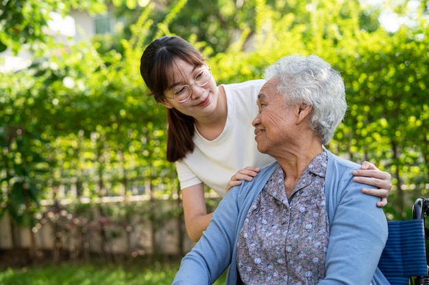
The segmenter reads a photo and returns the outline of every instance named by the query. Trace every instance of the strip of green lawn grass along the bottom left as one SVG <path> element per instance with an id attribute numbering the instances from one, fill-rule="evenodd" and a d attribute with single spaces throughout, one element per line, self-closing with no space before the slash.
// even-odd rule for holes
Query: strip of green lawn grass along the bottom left
<path id="1" fill-rule="evenodd" d="M 0 285 L 164 285 L 171 284 L 178 268 L 178 262 L 155 262 L 141 267 L 138 264 L 45 264 L 0 271 Z M 225 274 L 215 284 L 225 284 Z"/>

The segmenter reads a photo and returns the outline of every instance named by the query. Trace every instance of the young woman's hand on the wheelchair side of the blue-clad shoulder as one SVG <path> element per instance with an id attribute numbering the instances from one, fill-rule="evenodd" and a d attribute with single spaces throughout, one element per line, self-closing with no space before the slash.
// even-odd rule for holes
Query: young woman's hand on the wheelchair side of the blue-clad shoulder
<path id="1" fill-rule="evenodd" d="M 380 171 L 376 165 L 373 165 L 369 161 L 364 161 L 360 169 L 354 170 L 353 175 L 355 175 L 353 178 L 355 182 L 378 187 L 378 189 L 363 188 L 362 192 L 380 197 L 380 202 L 377 202 L 378 207 L 387 205 L 387 197 L 392 188 L 392 176 L 389 173 Z"/>

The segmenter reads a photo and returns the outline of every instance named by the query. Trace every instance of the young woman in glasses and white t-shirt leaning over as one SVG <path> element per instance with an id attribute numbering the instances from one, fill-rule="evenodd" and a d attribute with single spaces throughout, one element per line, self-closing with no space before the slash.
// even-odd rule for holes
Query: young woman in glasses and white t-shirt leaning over
<path id="1" fill-rule="evenodd" d="M 188 236 L 198 241 L 212 217 L 204 185 L 221 197 L 239 180 L 252 180 L 259 167 L 274 159 L 258 152 L 252 120 L 265 80 L 217 86 L 204 57 L 186 40 L 164 36 L 151 42 L 140 60 L 150 95 L 168 108 L 167 160 L 175 162 L 182 189 Z M 391 176 L 364 162 L 356 182 L 378 187 L 363 193 L 387 204 Z"/>

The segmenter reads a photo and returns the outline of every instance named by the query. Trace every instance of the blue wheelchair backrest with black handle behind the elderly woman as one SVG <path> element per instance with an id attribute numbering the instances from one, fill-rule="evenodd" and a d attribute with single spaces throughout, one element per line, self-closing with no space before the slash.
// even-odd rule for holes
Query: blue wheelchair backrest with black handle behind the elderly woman
<path id="1" fill-rule="evenodd" d="M 413 219 L 389 221 L 389 236 L 378 267 L 391 285 L 429 285 L 426 228 L 429 199 L 417 198 Z"/>

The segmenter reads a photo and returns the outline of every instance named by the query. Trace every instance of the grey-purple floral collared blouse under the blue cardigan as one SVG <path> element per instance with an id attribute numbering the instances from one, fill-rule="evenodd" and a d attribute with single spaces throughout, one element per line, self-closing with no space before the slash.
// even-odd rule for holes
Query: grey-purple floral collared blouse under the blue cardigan
<path id="1" fill-rule="evenodd" d="M 326 152 L 321 152 L 286 197 L 279 166 L 249 208 L 237 243 L 243 284 L 317 284 L 325 276 L 329 221 Z"/>

